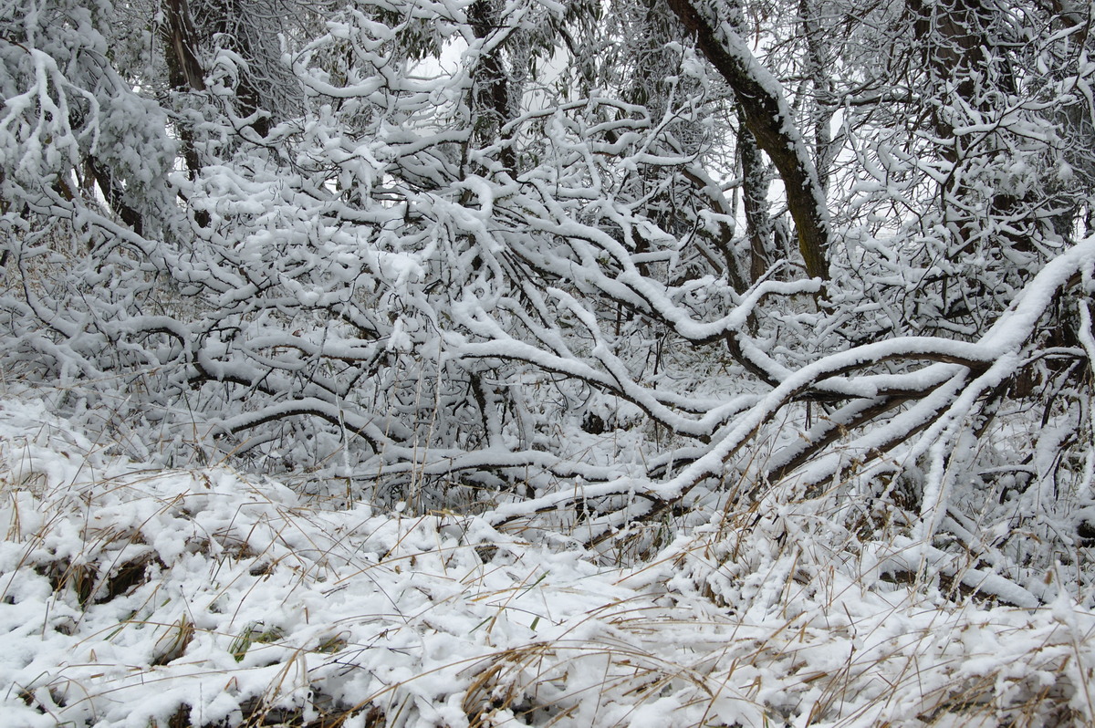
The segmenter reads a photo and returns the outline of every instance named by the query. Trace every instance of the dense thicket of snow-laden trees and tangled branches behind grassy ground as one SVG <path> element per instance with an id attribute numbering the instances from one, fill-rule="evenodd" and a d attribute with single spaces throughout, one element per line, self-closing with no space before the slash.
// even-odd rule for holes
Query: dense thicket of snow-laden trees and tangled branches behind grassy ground
<path id="1" fill-rule="evenodd" d="M 631 555 L 797 515 L 1083 591 L 1090 23 L 4 2 L 0 367 L 169 464 Z"/>

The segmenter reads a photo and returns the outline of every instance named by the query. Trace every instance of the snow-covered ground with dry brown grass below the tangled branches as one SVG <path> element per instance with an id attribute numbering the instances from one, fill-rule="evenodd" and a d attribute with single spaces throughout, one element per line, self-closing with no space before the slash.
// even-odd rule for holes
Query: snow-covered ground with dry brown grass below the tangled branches
<path id="1" fill-rule="evenodd" d="M 4 726 L 1095 723 L 1063 599 L 955 604 L 727 524 L 609 567 L 142 467 L 13 398 L 0 448 Z"/>

